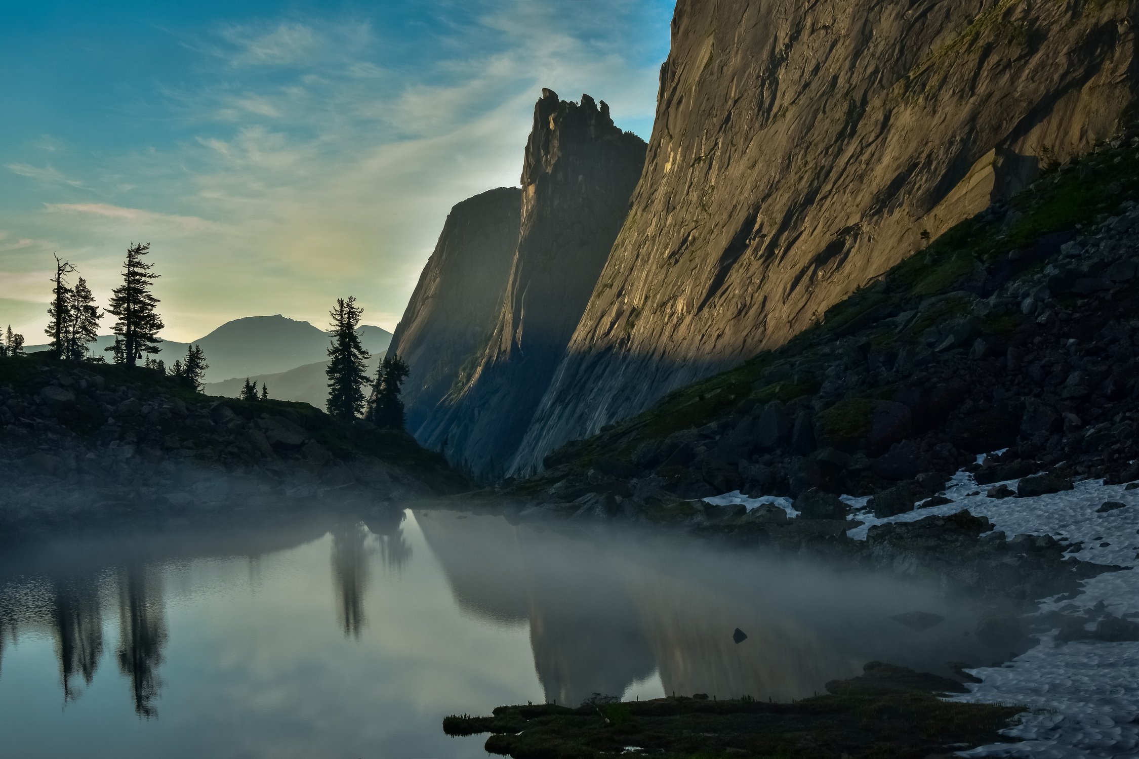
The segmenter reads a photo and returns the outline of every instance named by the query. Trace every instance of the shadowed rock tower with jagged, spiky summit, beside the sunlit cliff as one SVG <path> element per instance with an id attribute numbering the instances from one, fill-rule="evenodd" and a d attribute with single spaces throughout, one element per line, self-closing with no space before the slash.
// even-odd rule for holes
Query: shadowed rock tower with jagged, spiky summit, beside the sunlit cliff
<path id="1" fill-rule="evenodd" d="M 490 339 L 419 427 L 420 443 L 476 472 L 510 461 L 621 230 L 645 150 L 614 125 L 605 101 L 542 91 L 518 244 Z"/>

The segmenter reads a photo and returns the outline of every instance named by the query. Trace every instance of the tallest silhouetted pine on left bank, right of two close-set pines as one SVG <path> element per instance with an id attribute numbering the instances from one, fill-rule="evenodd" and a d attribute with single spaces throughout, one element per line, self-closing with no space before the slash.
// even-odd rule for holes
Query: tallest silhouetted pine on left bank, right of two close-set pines
<path id="1" fill-rule="evenodd" d="M 142 261 L 150 253 L 150 245 L 132 245 L 123 262 L 123 283 L 113 290 L 108 314 L 118 317 L 114 333 L 118 338 L 107 348 L 115 354 L 115 363 L 133 366 L 144 353 L 158 353 L 158 330 L 165 324 L 155 311 L 158 298 L 150 294 L 151 282 L 159 274 L 151 274 L 154 264 Z"/>

